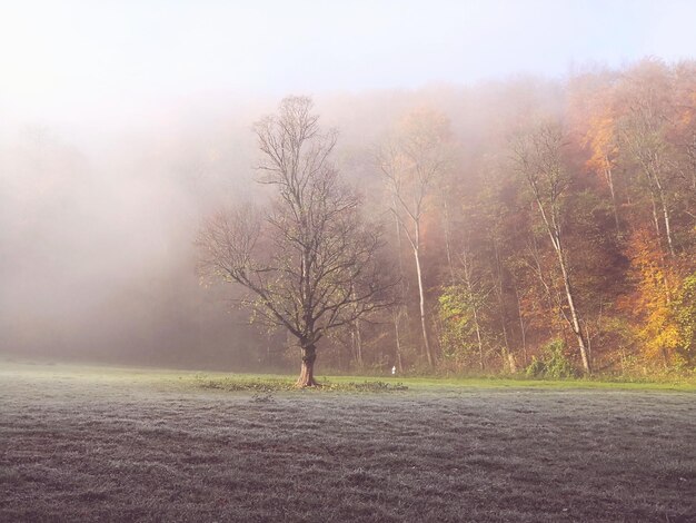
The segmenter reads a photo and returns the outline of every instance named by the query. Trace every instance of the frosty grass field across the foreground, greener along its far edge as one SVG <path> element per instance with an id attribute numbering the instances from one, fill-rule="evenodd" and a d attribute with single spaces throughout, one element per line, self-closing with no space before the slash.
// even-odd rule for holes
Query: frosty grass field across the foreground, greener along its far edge
<path id="1" fill-rule="evenodd" d="M 0 521 L 696 521 L 693 386 L 240 379 L 0 363 Z"/>

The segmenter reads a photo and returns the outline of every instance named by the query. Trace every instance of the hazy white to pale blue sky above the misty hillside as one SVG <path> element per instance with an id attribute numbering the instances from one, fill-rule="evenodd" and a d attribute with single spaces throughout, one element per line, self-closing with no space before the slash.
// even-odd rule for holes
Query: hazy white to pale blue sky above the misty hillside
<path id="1" fill-rule="evenodd" d="M 419 87 L 696 56 L 696 1 L 0 0 L 0 116 Z"/>

